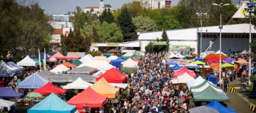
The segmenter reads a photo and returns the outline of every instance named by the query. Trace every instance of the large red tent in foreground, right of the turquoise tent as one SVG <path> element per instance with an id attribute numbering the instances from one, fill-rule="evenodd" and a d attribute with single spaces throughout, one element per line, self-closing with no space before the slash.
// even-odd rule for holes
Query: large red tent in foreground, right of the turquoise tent
<path id="1" fill-rule="evenodd" d="M 89 86 L 87 89 L 67 101 L 67 104 L 75 105 L 76 110 L 82 110 L 82 107 L 102 107 L 107 103 L 107 96 L 95 92 Z"/>

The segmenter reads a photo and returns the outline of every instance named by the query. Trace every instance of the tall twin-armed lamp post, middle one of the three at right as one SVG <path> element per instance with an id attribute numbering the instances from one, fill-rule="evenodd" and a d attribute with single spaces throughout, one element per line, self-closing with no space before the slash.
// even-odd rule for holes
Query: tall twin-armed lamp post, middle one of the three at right
<path id="1" fill-rule="evenodd" d="M 219 6 L 220 7 L 220 26 L 219 26 L 219 80 L 221 80 L 221 29 L 223 28 L 223 26 L 221 25 L 221 8 L 222 6 L 228 6 L 229 3 L 224 4 L 223 3 L 213 3 L 213 5 L 215 6 Z"/>

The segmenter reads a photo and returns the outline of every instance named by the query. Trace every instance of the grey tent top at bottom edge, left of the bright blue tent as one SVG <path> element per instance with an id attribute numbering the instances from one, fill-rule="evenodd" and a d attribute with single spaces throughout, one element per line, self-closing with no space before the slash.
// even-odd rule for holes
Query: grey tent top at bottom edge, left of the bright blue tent
<path id="1" fill-rule="evenodd" d="M 189 109 L 189 113 L 219 113 L 218 110 L 206 106 L 199 106 Z"/>

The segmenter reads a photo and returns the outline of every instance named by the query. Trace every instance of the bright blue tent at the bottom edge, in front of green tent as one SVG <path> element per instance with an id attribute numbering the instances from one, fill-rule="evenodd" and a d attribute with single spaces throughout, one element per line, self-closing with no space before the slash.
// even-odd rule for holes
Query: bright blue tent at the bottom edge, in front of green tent
<path id="1" fill-rule="evenodd" d="M 210 107 L 213 108 L 215 110 L 218 110 L 219 113 L 237 113 L 235 110 L 233 110 L 232 108 L 227 108 L 225 106 L 223 106 L 222 104 L 220 104 L 218 101 L 213 100 L 212 102 L 210 102 L 209 104 L 204 105 L 206 107 Z"/>

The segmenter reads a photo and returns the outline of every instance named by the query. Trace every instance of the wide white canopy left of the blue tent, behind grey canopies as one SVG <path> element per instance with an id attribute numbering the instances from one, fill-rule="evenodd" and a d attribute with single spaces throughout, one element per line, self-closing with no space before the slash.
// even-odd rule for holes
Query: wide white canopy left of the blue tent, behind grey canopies
<path id="1" fill-rule="evenodd" d="M 80 68 L 83 66 L 97 68 L 97 70 L 100 70 L 102 68 L 104 68 L 105 70 L 109 70 L 110 68 L 116 68 L 115 66 L 111 65 L 110 63 L 104 60 L 87 60 L 76 68 Z"/>

